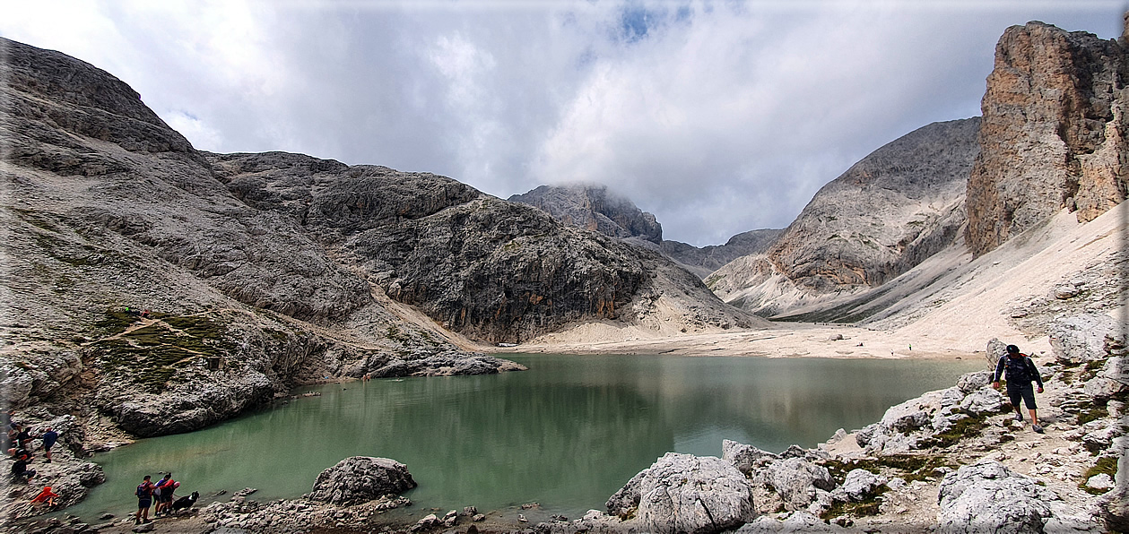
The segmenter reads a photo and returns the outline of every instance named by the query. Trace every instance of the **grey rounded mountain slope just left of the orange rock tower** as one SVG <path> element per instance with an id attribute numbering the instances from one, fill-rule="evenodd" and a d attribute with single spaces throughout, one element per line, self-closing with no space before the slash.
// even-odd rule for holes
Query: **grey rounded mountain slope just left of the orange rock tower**
<path id="1" fill-rule="evenodd" d="M 908 271 L 960 237 L 979 125 L 934 123 L 875 150 L 824 185 L 764 255 L 734 260 L 706 283 L 768 316 Z"/>

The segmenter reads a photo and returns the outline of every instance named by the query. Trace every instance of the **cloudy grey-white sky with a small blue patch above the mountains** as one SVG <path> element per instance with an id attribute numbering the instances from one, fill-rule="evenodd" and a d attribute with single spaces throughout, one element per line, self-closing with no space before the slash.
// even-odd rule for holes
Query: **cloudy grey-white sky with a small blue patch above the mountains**
<path id="1" fill-rule="evenodd" d="M 1127 3 L 0 0 L 0 35 L 130 84 L 199 149 L 431 172 L 507 198 L 597 182 L 664 237 L 782 228 L 823 184 L 980 113 L 995 44 L 1112 38 Z"/>

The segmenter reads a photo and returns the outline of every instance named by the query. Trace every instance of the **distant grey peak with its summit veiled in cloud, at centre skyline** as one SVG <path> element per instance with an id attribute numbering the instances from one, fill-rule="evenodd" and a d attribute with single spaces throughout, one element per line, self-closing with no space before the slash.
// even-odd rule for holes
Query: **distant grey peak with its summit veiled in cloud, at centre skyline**
<path id="1" fill-rule="evenodd" d="M 609 192 L 604 185 L 542 185 L 508 200 L 536 207 L 568 226 L 610 237 L 639 237 L 655 244 L 663 243 L 663 225 L 655 220 L 654 215 L 640 210 L 627 198 Z"/>

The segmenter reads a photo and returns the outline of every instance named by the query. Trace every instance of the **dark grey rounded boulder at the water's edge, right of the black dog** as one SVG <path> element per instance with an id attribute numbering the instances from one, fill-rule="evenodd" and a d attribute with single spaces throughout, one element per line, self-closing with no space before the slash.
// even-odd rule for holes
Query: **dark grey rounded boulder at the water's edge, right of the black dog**
<path id="1" fill-rule="evenodd" d="M 388 458 L 351 456 L 322 471 L 309 493 L 313 500 L 352 506 L 415 488 L 408 466 Z"/>

